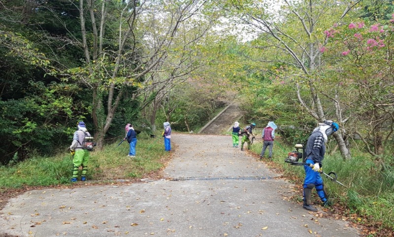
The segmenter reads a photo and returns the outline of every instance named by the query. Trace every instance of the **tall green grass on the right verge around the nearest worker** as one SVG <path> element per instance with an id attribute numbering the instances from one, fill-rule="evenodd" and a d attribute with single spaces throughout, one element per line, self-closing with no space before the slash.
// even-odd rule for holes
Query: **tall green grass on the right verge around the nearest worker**
<path id="1" fill-rule="evenodd" d="M 261 137 L 259 137 L 261 140 Z M 261 143 L 252 145 L 253 152 L 260 154 Z M 303 180 L 303 166 L 290 165 L 284 162 L 288 153 L 296 150 L 278 141 L 274 143 L 273 161 L 283 168 L 285 174 L 291 174 Z M 323 161 L 326 173 L 335 172 L 338 181 L 349 189 L 323 178 L 330 199 L 345 205 L 350 213 L 357 213 L 364 222 L 365 219 L 376 228 L 387 228 L 394 231 L 394 168 L 378 166 L 368 154 L 353 152 L 352 159 L 343 160 L 339 152 L 329 155 L 328 149 Z M 265 151 L 267 155 L 268 149 Z M 324 175 L 322 175 L 324 177 Z M 317 197 L 315 201 L 319 203 Z M 315 202 L 315 203 L 316 203 Z"/>

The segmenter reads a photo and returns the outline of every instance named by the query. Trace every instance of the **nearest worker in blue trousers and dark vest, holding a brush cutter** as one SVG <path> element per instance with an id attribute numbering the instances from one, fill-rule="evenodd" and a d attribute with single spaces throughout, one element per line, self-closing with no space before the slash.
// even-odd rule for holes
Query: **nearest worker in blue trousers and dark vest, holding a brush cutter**
<path id="1" fill-rule="evenodd" d="M 311 205 L 311 194 L 314 187 L 316 188 L 317 194 L 322 200 L 323 205 L 326 205 L 328 202 L 328 197 L 320 174 L 323 173 L 330 177 L 329 174 L 333 173 L 330 172 L 329 174 L 326 174 L 323 172 L 321 167 L 324 155 L 326 153 L 325 143 L 328 140 L 328 136 L 338 131 L 338 129 L 338 124 L 332 122 L 331 120 L 325 120 L 323 123 L 319 123 L 319 126 L 315 128 L 309 135 L 308 141 L 306 142 L 306 149 L 304 150 L 303 145 L 297 144 L 296 148 L 302 149 L 302 153 L 289 153 L 289 157 L 285 159 L 285 162 L 291 163 L 293 165 L 304 166 L 305 180 L 303 184 L 303 208 L 306 210 L 317 211 L 317 209 Z M 303 158 L 304 162 L 297 162 L 300 158 Z M 334 182 L 337 182 L 336 174 L 335 178 L 330 177 L 330 179 Z"/>

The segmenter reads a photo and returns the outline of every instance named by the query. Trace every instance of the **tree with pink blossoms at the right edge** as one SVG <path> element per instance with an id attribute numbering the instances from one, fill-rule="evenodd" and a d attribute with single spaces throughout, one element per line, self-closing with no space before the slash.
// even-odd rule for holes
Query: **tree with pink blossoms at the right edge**
<path id="1" fill-rule="evenodd" d="M 358 134 L 378 161 L 391 143 L 394 126 L 393 22 L 394 14 L 369 26 L 360 20 L 336 26 L 325 49 L 331 65 L 325 70 L 327 84 L 336 88 L 325 94 L 347 111 L 349 132 Z"/>

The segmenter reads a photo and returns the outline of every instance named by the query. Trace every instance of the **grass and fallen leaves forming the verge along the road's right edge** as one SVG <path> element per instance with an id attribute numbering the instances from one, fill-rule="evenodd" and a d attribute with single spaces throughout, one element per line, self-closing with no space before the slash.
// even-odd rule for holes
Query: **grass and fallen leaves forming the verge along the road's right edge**
<path id="1" fill-rule="evenodd" d="M 256 133 L 261 133 L 257 130 Z M 258 139 L 261 137 L 257 136 Z M 352 150 L 352 159 L 342 159 L 339 152 L 333 152 L 335 142 L 328 142 L 327 154 L 323 162 L 326 173 L 335 172 L 338 181 L 348 189 L 330 181 L 322 175 L 327 188 L 331 206 L 326 207 L 334 218 L 361 224 L 363 236 L 393 236 L 394 233 L 394 169 L 392 166 L 381 168 L 369 154 Z M 305 177 L 303 166 L 290 165 L 284 159 L 295 151 L 294 146 L 286 145 L 283 137 L 277 136 L 274 142 L 271 168 L 280 169 L 284 177 L 296 184 L 298 193 L 295 201 L 302 202 L 302 183 Z M 262 144 L 254 142 L 252 151 L 260 156 Z M 265 151 L 268 153 L 268 149 Z M 388 157 L 389 158 L 389 157 Z M 312 195 L 315 205 L 320 204 L 316 192 Z M 332 217 L 332 216 L 331 216 Z"/>

